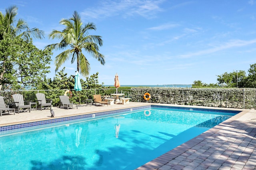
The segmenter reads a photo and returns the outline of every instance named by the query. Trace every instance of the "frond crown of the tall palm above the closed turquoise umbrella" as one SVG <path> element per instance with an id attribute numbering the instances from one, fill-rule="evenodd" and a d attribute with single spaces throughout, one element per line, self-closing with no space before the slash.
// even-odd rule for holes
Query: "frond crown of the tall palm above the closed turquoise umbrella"
<path id="1" fill-rule="evenodd" d="M 95 59 L 100 61 L 102 65 L 105 64 L 104 55 L 99 53 L 99 46 L 102 46 L 102 39 L 98 35 L 88 35 L 89 30 L 96 30 L 94 23 L 87 23 L 83 25 L 79 14 L 75 11 L 73 17 L 68 19 L 62 19 L 60 24 L 66 27 L 62 31 L 53 30 L 49 37 L 54 39 L 60 39 L 60 43 L 55 43 L 46 46 L 46 48 L 52 49 L 67 49 L 55 57 L 55 71 L 65 63 L 70 57 L 71 63 L 77 61 L 77 71 L 83 76 L 87 76 L 90 71 L 90 64 L 82 53 L 84 49 L 88 54 L 92 55 Z M 80 71 L 79 71 L 80 69 Z"/>

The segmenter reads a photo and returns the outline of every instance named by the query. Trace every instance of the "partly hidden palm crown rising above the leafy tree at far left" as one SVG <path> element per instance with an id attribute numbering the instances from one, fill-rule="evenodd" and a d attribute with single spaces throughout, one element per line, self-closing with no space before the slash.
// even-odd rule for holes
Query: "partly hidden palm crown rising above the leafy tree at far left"
<path id="1" fill-rule="evenodd" d="M 16 6 L 10 6 L 5 10 L 5 15 L 0 12 L 0 40 L 4 39 L 4 36 L 9 33 L 13 38 L 22 38 L 26 41 L 30 40 L 30 35 L 36 38 L 42 39 L 44 37 L 44 31 L 38 28 L 30 29 L 28 24 L 19 19 L 15 25 L 15 19 L 18 14 L 18 8 Z"/>

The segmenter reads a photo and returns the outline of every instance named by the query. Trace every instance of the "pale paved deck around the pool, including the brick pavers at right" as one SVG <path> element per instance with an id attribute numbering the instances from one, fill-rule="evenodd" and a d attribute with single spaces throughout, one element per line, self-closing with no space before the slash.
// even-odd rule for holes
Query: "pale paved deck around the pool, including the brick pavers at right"
<path id="1" fill-rule="evenodd" d="M 154 104 L 130 102 L 130 104 L 126 105 L 83 105 L 78 109 L 74 107 L 68 110 L 54 107 L 54 118 L 146 105 Z M 170 104 L 156 105 L 226 109 Z M 242 112 L 138 167 L 137 170 L 254 170 L 256 168 L 256 110 L 230 108 L 227 110 L 239 110 Z M 11 114 L 13 113 L 10 113 L 10 115 L 3 114 L 0 117 L 0 126 L 52 119 L 49 109 Z"/>

